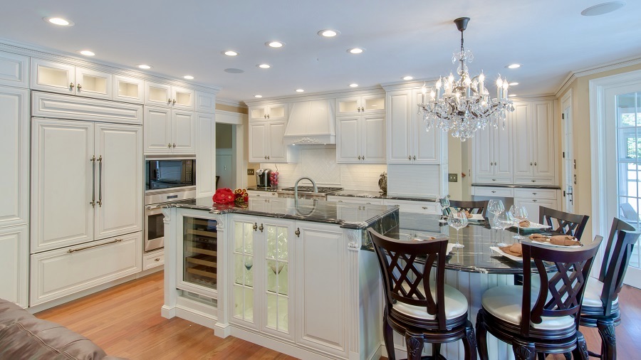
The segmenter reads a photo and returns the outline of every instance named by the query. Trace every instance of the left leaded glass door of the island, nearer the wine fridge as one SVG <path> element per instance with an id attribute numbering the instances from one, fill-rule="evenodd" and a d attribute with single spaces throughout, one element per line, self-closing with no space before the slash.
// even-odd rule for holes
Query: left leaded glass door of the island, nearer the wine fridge
<path id="1" fill-rule="evenodd" d="M 234 219 L 234 246 L 232 249 L 231 317 L 234 322 L 254 324 L 254 250 L 259 224 L 253 218 Z"/>

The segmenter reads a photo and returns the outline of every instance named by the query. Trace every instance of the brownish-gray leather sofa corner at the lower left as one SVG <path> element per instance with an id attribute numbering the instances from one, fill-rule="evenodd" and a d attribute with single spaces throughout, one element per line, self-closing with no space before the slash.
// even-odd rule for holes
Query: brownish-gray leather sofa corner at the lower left
<path id="1" fill-rule="evenodd" d="M 0 299 L 0 359 L 120 359 L 86 337 Z"/>

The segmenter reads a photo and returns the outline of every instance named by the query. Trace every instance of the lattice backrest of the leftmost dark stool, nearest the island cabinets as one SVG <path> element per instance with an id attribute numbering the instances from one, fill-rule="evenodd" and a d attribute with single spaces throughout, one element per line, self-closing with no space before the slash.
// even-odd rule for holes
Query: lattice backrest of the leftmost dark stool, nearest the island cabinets
<path id="1" fill-rule="evenodd" d="M 447 238 L 405 241 L 388 238 L 368 228 L 385 285 L 385 305 L 391 311 L 395 302 L 425 307 L 435 315 L 440 330 L 445 330 L 445 257 Z M 436 299 L 432 296 L 429 277 L 434 263 Z"/>

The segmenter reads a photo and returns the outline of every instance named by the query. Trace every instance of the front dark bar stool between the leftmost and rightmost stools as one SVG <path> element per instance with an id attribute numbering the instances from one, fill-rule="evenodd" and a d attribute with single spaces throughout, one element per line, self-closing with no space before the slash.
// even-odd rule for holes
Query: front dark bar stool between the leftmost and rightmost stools
<path id="1" fill-rule="evenodd" d="M 512 345 L 516 359 L 536 354 L 563 354 L 588 359 L 585 338 L 578 330 L 581 300 L 594 256 L 602 237 L 582 248 L 552 248 L 523 241 L 523 286 L 492 287 L 481 299 L 476 317 L 476 342 L 481 359 L 487 360 L 487 333 Z M 532 260 L 532 261 L 531 261 Z M 546 274 L 543 261 L 554 263 L 551 277 L 541 276 L 541 287 L 532 286 L 532 263 Z"/>

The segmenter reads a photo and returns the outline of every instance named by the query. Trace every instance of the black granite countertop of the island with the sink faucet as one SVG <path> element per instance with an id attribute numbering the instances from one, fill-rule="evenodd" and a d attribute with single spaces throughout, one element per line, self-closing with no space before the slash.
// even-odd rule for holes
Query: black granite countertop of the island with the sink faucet
<path id="1" fill-rule="evenodd" d="M 168 203 L 164 207 L 191 208 L 209 213 L 241 213 L 251 216 L 313 221 L 336 224 L 340 228 L 351 229 L 368 228 L 382 218 L 398 218 L 397 206 L 336 203 L 302 198 L 298 201 L 293 198 L 250 198 L 246 206 L 238 206 L 217 204 L 212 202 L 212 198 L 203 197 Z"/>

